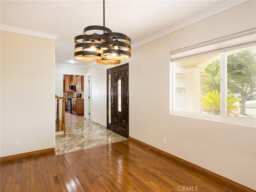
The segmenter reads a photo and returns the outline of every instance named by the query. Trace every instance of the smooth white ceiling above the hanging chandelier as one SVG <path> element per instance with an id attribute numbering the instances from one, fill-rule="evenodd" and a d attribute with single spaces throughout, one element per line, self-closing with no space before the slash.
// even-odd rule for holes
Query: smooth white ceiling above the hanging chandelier
<path id="1" fill-rule="evenodd" d="M 105 26 L 126 34 L 132 48 L 232 6 L 227 0 L 105 0 Z M 240 4 L 245 1 L 239 1 Z M 234 4 L 234 5 L 233 5 Z M 103 26 L 103 0 L 1 0 L 1 27 L 58 35 L 56 63 L 86 66 L 74 59 L 74 37 L 86 26 Z M 73 61 L 74 63 L 72 64 Z"/>

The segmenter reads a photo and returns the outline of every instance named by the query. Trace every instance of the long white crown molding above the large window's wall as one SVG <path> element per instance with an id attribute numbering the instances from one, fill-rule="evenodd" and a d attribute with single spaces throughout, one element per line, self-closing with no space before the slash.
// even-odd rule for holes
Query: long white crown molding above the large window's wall
<path id="1" fill-rule="evenodd" d="M 200 14 L 197 14 L 196 16 L 193 16 L 193 17 L 191 17 L 189 19 L 186 19 L 186 20 L 184 20 L 184 21 L 182 21 L 182 22 L 180 22 L 180 23 L 178 23 L 178 24 L 176 24 L 174 26 L 171 26 L 170 28 L 167 28 L 167 29 L 162 30 L 161 32 L 158 32 L 158 33 L 156 33 L 156 34 L 154 34 L 152 36 L 144 38 L 144 39 L 134 43 L 132 45 L 132 48 L 135 48 L 135 47 L 141 46 L 143 44 L 146 44 L 146 43 L 148 43 L 150 41 L 153 41 L 153 40 L 158 39 L 158 38 L 160 38 L 162 36 L 165 36 L 167 34 L 170 34 L 172 32 L 180 30 L 180 29 L 182 29 L 182 28 L 184 28 L 186 26 L 189 26 L 189 25 L 194 24 L 194 23 L 196 23 L 198 21 L 204 20 L 204 19 L 206 19 L 208 17 L 214 16 L 214 15 L 216 15 L 218 13 L 226 11 L 226 10 L 232 8 L 232 7 L 238 6 L 238 5 L 240 5 L 242 3 L 245 3 L 247 1 L 249 1 L 249 0 L 237 0 L 237 1 L 228 0 L 228 1 L 222 3 L 222 4 L 218 5 L 218 6 L 215 6 L 214 8 L 210 8 L 210 9 L 208 9 L 208 10 L 206 10 L 206 11 L 200 13 Z"/>

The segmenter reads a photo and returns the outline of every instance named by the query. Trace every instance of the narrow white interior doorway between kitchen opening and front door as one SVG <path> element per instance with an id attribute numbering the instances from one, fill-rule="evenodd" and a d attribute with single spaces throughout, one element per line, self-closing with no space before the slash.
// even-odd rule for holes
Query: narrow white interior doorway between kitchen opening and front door
<path id="1" fill-rule="evenodd" d="M 85 118 L 92 119 L 92 75 L 85 75 Z"/>

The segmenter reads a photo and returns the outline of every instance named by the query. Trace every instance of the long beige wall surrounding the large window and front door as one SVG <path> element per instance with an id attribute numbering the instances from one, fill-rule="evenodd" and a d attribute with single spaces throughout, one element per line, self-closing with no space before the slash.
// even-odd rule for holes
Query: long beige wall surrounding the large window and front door
<path id="1" fill-rule="evenodd" d="M 170 52 L 255 28 L 255 3 L 245 2 L 134 48 L 132 58 L 126 61 L 129 93 L 134 94 L 129 106 L 129 135 L 254 190 L 255 126 L 170 114 Z M 98 64 L 86 68 L 92 72 L 92 99 L 97 105 L 92 117 L 105 126 L 106 98 L 103 101 L 101 95 L 106 92 L 106 68 Z"/>

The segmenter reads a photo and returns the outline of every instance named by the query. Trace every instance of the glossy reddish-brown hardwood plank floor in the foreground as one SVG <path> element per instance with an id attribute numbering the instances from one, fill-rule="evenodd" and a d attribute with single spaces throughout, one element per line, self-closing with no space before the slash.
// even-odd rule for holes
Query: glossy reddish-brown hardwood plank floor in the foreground
<path id="1" fill-rule="evenodd" d="M 234 192 L 126 140 L 1 163 L 1 192 Z"/>

